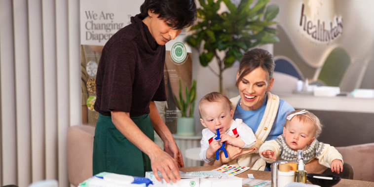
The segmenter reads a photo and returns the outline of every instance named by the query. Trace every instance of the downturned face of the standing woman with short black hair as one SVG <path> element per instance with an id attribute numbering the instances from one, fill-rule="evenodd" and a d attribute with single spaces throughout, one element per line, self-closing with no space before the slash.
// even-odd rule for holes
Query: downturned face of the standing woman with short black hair
<path id="1" fill-rule="evenodd" d="M 159 45 L 165 45 L 182 32 L 182 29 L 173 29 L 171 21 L 158 18 L 159 14 L 152 13 L 152 11 L 149 10 L 148 15 L 148 17 L 143 19 L 143 22 L 148 26 L 150 34 Z"/>

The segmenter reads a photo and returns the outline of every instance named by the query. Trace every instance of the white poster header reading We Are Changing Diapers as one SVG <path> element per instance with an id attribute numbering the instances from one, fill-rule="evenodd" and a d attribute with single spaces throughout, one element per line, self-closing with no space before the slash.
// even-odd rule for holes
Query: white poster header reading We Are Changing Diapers
<path id="1" fill-rule="evenodd" d="M 140 0 L 80 0 L 82 45 L 104 45 L 140 13 Z"/>

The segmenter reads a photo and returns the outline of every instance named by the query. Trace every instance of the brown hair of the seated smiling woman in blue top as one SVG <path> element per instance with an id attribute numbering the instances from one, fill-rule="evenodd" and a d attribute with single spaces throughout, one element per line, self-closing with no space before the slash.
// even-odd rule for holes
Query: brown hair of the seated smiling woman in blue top
<path id="1" fill-rule="evenodd" d="M 270 54 L 265 49 L 255 48 L 249 50 L 243 54 L 239 65 L 239 77 L 236 80 L 236 86 L 238 86 L 241 79 L 251 73 L 256 68 L 261 67 L 265 72 L 267 72 L 268 79 L 273 77 L 275 63 L 273 55 Z"/>

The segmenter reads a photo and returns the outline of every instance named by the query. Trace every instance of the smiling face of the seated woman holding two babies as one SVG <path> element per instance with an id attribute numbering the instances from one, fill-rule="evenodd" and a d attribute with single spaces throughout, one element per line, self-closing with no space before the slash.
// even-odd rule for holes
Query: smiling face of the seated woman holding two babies
<path id="1" fill-rule="evenodd" d="M 261 67 L 254 69 L 238 82 L 240 93 L 240 107 L 244 110 L 258 109 L 265 99 L 266 91 L 270 91 L 273 86 L 274 78 L 269 80 L 268 74 Z M 236 75 L 236 80 L 239 73 Z"/>

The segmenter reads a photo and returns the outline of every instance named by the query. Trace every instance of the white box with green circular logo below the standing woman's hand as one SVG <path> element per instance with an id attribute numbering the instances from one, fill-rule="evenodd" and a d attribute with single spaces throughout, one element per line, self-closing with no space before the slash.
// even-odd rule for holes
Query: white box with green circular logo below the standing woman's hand
<path id="1" fill-rule="evenodd" d="M 200 187 L 199 178 L 181 179 L 177 183 L 173 183 L 172 181 L 166 183 L 165 179 L 160 176 L 161 182 L 159 182 L 151 171 L 146 172 L 146 178 L 150 179 L 153 183 L 153 185 L 148 187 Z"/>

